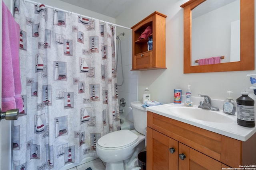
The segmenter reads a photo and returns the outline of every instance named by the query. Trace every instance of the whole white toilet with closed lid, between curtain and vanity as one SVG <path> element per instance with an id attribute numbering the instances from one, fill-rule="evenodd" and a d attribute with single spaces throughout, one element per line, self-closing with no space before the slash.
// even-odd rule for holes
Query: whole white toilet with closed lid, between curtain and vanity
<path id="1" fill-rule="evenodd" d="M 142 102 L 131 102 L 135 130 L 120 130 L 101 137 L 96 144 L 99 158 L 106 170 L 131 170 L 138 153 L 145 147 L 147 111 Z"/>

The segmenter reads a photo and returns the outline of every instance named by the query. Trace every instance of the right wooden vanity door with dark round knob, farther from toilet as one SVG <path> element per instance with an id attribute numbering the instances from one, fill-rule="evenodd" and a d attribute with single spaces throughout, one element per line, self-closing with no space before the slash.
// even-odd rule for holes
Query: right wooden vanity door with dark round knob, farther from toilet
<path id="1" fill-rule="evenodd" d="M 221 162 L 179 143 L 179 170 L 220 170 Z"/>

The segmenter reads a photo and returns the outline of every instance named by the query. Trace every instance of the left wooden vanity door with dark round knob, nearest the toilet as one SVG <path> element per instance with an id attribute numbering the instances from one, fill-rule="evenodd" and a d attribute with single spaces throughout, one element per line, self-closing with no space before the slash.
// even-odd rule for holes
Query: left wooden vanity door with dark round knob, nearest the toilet
<path id="1" fill-rule="evenodd" d="M 178 141 L 147 128 L 147 170 L 178 170 Z"/>

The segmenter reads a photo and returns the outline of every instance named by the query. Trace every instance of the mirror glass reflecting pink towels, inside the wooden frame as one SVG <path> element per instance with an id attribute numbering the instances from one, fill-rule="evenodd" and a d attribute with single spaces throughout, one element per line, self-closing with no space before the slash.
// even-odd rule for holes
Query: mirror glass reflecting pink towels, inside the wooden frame
<path id="1" fill-rule="evenodd" d="M 240 0 L 206 0 L 191 12 L 191 66 L 240 61 Z"/>

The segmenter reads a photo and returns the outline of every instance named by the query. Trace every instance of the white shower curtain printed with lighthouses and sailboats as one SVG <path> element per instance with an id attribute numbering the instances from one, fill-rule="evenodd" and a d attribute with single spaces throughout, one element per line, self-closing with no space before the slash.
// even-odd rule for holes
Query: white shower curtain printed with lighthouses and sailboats
<path id="1" fill-rule="evenodd" d="M 14 170 L 58 170 L 97 156 L 120 130 L 115 27 L 15 1 L 24 109 L 13 127 Z"/>

